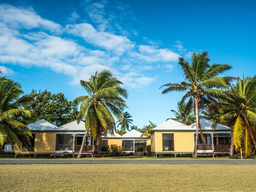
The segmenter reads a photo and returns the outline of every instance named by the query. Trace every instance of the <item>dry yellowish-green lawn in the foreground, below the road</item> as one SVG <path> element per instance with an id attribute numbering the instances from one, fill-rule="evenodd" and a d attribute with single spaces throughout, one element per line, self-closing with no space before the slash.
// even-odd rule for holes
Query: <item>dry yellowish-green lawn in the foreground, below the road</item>
<path id="1" fill-rule="evenodd" d="M 255 191 L 255 165 L 0 165 L 1 191 Z"/>

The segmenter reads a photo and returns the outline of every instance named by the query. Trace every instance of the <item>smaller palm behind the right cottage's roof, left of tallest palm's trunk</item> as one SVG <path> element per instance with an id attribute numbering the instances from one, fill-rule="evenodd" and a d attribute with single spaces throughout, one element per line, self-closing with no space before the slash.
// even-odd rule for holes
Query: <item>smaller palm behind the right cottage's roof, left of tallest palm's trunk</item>
<path id="1" fill-rule="evenodd" d="M 185 125 L 191 125 L 195 122 L 195 113 L 193 112 L 192 108 L 189 108 L 189 105 L 186 105 L 185 102 L 178 102 L 177 111 L 172 109 L 171 111 L 175 114 L 175 118 L 169 119 L 181 122 Z M 166 121 L 169 119 L 166 119 Z"/>

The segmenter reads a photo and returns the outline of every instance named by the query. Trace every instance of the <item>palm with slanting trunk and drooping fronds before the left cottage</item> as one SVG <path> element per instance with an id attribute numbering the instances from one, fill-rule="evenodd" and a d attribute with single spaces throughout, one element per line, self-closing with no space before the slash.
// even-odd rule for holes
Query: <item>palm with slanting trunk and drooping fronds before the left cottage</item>
<path id="1" fill-rule="evenodd" d="M 80 105 L 77 122 L 85 120 L 86 132 L 81 144 L 77 158 L 81 157 L 82 148 L 87 132 L 90 131 L 93 139 L 100 140 L 102 133 L 106 136 L 108 132 L 113 134 L 115 121 L 122 116 L 122 110 L 127 107 L 122 97 L 127 98 L 127 91 L 120 87 L 121 81 L 113 77 L 111 72 L 103 70 L 96 72 L 89 81 L 80 81 L 88 95 L 79 96 L 74 101 L 74 106 Z M 121 97 L 122 96 L 122 97 Z"/>

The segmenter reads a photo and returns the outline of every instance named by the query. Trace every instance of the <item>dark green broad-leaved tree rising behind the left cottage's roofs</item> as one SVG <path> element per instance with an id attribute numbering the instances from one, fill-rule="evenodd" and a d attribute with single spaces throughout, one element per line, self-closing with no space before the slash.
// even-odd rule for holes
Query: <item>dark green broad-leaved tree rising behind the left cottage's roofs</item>
<path id="1" fill-rule="evenodd" d="M 52 94 L 47 90 L 32 90 L 29 96 L 32 96 L 34 101 L 25 107 L 32 113 L 32 119 L 27 124 L 45 119 L 56 126 L 61 126 L 76 120 L 78 110 L 63 93 Z"/>

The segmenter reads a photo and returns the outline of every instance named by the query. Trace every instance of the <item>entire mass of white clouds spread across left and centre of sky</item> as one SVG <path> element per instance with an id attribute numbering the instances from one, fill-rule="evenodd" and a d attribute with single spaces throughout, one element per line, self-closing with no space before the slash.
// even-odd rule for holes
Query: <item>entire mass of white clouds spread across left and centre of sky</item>
<path id="1" fill-rule="evenodd" d="M 160 42 L 137 45 L 131 40 L 136 30 L 122 29 L 120 23 L 112 22 L 116 17 L 113 13 L 106 14 L 107 1 L 89 3 L 86 11 L 92 23 L 73 12 L 66 26 L 42 18 L 31 7 L 0 4 L 0 63 L 47 67 L 70 76 L 70 84 L 88 80 L 96 70 L 108 69 L 127 87 L 151 84 L 159 64 L 172 70 L 171 63 L 177 61 L 178 53 L 160 48 Z M 116 9 L 121 11 L 121 6 Z M 83 23 L 76 24 L 77 20 Z M 1 69 L 15 75 L 9 67 Z"/>

